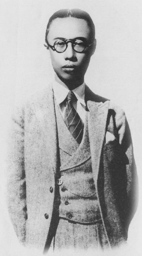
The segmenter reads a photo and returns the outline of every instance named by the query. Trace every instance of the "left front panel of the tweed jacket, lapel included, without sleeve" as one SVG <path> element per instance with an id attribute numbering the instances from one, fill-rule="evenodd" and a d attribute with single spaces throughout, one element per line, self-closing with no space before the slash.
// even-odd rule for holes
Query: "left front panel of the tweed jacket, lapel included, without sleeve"
<path id="1" fill-rule="evenodd" d="M 57 195 L 55 180 L 59 170 L 59 149 L 53 90 L 32 97 L 33 103 L 25 111 L 26 134 L 26 190 L 28 220 L 26 243 L 44 249 L 53 219 Z M 30 146 L 29 146 L 30 145 Z M 50 187 L 53 193 L 50 192 Z M 44 214 L 48 214 L 48 220 Z"/>

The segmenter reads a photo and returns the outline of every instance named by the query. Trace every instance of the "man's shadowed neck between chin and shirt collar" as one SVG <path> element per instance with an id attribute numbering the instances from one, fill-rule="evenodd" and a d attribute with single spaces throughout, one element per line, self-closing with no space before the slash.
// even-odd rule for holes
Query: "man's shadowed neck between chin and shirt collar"
<path id="1" fill-rule="evenodd" d="M 55 74 L 55 80 L 57 82 L 59 82 L 60 84 L 64 83 L 68 88 L 69 90 L 73 90 L 77 87 L 79 87 L 81 84 L 83 84 L 84 82 L 84 77 L 83 78 L 75 78 L 75 80 L 64 80 L 63 78 L 59 78 L 56 74 Z"/>

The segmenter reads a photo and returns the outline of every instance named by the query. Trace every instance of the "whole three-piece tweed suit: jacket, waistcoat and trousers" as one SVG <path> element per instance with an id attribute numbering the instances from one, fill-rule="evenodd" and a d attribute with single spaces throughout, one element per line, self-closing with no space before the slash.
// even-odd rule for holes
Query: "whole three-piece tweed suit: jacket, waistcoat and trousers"
<path id="1" fill-rule="evenodd" d="M 85 102 L 80 145 L 65 125 L 52 85 L 14 114 L 9 212 L 19 240 L 41 252 L 61 238 L 61 228 L 71 233 L 77 225 L 89 238 L 102 232 L 102 247 L 117 246 L 127 240 L 136 210 L 136 167 L 125 114 L 87 86 Z M 106 134 L 114 140 L 106 142 Z"/>

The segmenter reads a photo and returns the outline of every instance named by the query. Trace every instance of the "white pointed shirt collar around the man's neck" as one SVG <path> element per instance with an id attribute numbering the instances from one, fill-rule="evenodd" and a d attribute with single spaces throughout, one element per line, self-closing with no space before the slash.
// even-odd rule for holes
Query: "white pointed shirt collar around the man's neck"
<path id="1" fill-rule="evenodd" d="M 55 76 L 55 79 L 52 82 L 53 85 L 53 92 L 55 95 L 55 99 L 57 102 L 57 105 L 59 105 L 61 102 L 65 100 L 67 97 L 67 94 L 69 93 L 69 88 L 64 84 L 59 78 Z M 86 106 L 85 104 L 85 82 L 72 90 L 77 97 L 77 100 Z"/>

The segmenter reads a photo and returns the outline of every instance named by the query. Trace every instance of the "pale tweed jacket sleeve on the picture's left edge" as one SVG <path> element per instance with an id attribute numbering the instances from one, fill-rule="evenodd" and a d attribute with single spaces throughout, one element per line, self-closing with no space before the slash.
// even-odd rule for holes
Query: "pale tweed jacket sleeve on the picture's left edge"
<path id="1" fill-rule="evenodd" d="M 8 210 L 20 242 L 26 236 L 26 177 L 24 169 L 24 110 L 17 109 L 9 132 Z"/>

